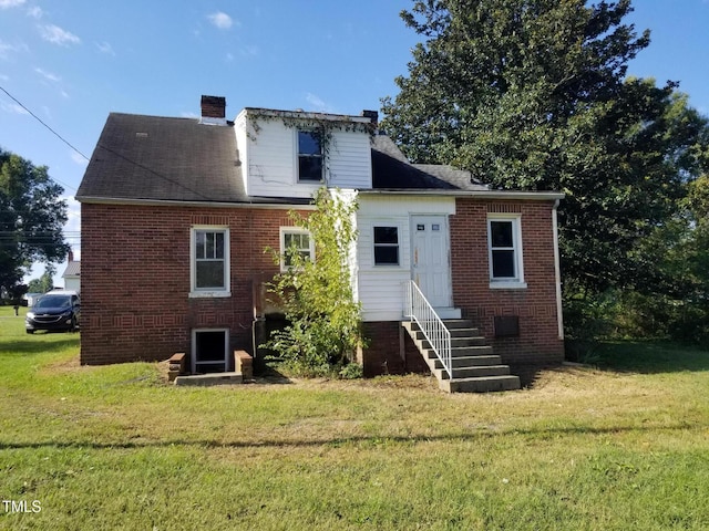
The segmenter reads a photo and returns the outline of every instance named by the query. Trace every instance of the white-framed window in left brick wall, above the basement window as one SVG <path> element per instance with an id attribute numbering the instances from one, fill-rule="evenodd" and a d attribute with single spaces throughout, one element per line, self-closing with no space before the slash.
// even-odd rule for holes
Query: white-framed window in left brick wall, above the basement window
<path id="1" fill-rule="evenodd" d="M 191 296 L 229 296 L 229 229 L 193 227 L 189 248 Z"/>

